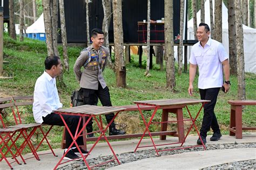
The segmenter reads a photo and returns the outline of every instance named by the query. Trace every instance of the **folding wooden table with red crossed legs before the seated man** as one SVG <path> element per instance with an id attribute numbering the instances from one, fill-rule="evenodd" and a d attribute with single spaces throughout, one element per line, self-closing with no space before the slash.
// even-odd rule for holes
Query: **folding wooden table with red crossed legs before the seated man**
<path id="1" fill-rule="evenodd" d="M 71 107 L 71 108 L 64 108 L 64 109 L 59 109 L 59 110 L 56 110 L 56 111 L 53 111 L 57 114 L 60 115 L 60 118 L 62 118 L 63 120 L 63 123 L 66 127 L 66 130 L 68 130 L 69 134 L 71 135 L 71 138 L 73 139 L 73 142 L 71 143 L 71 145 L 69 146 L 68 150 L 65 152 L 65 154 L 62 156 L 62 158 L 60 158 L 58 164 L 55 166 L 54 169 L 56 169 L 60 164 L 64 164 L 68 161 L 65 161 L 65 162 L 62 162 L 63 158 L 65 157 L 66 153 L 69 152 L 71 146 L 73 144 L 76 145 L 81 157 L 83 158 L 86 166 L 88 169 L 91 169 L 93 167 L 96 167 L 96 166 L 99 166 L 99 165 L 103 165 L 103 164 L 106 164 L 107 162 L 111 162 L 111 161 L 114 161 L 116 160 L 118 162 L 118 164 L 120 164 L 116 154 L 114 153 L 113 151 L 113 148 L 111 147 L 110 145 L 110 142 L 107 140 L 106 138 L 106 135 L 105 135 L 105 132 L 107 131 L 107 128 L 109 128 L 109 126 L 111 125 L 111 123 L 113 122 L 114 118 L 117 117 L 118 113 L 120 111 L 123 111 L 125 110 L 125 108 L 120 108 L 120 107 L 112 107 L 112 106 L 91 106 L 91 105 L 83 105 L 83 106 L 77 106 L 77 107 Z M 103 123 L 102 123 L 102 115 L 104 114 L 109 114 L 109 113 L 114 113 L 114 117 L 113 119 L 110 121 L 109 124 L 107 124 L 107 126 L 105 128 L 103 128 Z M 64 118 L 63 118 L 63 115 L 78 115 L 80 116 L 80 119 L 79 119 L 79 123 L 77 125 L 77 132 L 75 134 L 75 136 L 72 135 L 72 133 L 70 132 L 69 130 L 69 127 L 68 125 L 66 124 Z M 83 120 L 82 118 L 85 118 L 85 117 L 88 117 L 88 120 L 84 123 L 82 129 L 78 132 L 78 129 L 79 129 L 79 126 L 81 123 L 83 123 Z M 96 117 L 99 118 L 99 120 L 96 119 Z M 96 133 L 96 132 L 100 132 L 101 134 L 99 135 L 98 139 L 96 140 L 95 144 L 93 144 L 93 146 L 91 147 L 91 149 L 89 150 L 89 153 L 87 155 L 83 155 L 82 152 L 80 151 L 80 148 L 76 142 L 76 140 L 78 139 L 78 137 L 80 137 L 82 135 L 82 132 L 83 130 L 85 129 L 86 125 L 89 123 L 89 121 L 94 118 L 94 121 L 96 121 L 98 127 L 99 127 L 99 130 L 98 131 L 93 131 L 92 133 Z M 111 160 L 108 160 L 106 162 L 103 162 L 103 163 L 100 163 L 100 164 L 97 164 L 97 165 L 93 165 L 93 166 L 89 166 L 89 164 L 87 164 L 87 161 L 86 161 L 86 158 L 87 156 L 92 152 L 93 148 L 96 146 L 96 144 L 98 143 L 98 141 L 100 140 L 100 138 L 104 137 L 104 139 L 106 140 L 107 144 L 109 145 L 110 149 L 111 149 L 111 152 L 114 156 L 113 159 Z"/>

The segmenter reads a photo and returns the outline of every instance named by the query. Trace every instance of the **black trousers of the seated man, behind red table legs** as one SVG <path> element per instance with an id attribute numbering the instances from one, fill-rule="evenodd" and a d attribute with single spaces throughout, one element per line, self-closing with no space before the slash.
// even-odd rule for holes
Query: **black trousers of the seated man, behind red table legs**
<path id="1" fill-rule="evenodd" d="M 77 130 L 77 125 L 79 122 L 79 116 L 77 115 L 63 115 L 64 120 L 66 121 L 66 124 L 68 125 L 71 133 L 73 136 L 75 136 L 76 130 Z M 60 118 L 59 114 L 56 113 L 51 113 L 46 115 L 46 117 L 43 117 L 43 124 L 46 125 L 57 125 L 57 126 L 65 126 L 62 118 Z M 81 130 L 83 127 L 83 119 L 80 122 L 79 130 Z M 68 130 L 66 130 L 66 148 L 68 148 L 73 139 L 71 138 Z M 83 137 L 78 137 L 77 139 L 77 144 L 78 145 L 84 145 Z M 75 144 L 72 145 L 72 147 L 76 147 Z"/>

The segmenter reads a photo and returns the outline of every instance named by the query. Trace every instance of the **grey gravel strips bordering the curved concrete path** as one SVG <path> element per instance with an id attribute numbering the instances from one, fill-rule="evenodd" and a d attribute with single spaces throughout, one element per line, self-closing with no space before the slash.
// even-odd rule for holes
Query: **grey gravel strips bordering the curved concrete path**
<path id="1" fill-rule="evenodd" d="M 212 144 L 212 145 L 206 145 L 207 150 L 214 150 L 214 149 L 232 149 L 232 148 L 255 148 L 256 142 L 253 143 L 240 143 L 234 142 L 233 144 Z M 176 147 L 165 147 L 163 149 L 167 148 L 176 148 Z M 195 152 L 195 151 L 203 151 L 203 147 L 194 147 L 194 148 L 187 148 L 187 149 L 177 149 L 173 151 L 165 151 L 165 152 L 159 152 L 159 157 L 165 156 L 165 155 L 172 155 L 172 154 L 179 154 L 179 153 L 185 153 L 185 152 Z M 132 161 L 138 161 L 142 159 L 147 158 L 154 158 L 157 157 L 156 151 L 154 149 L 147 149 L 143 151 L 137 151 L 134 152 L 127 152 L 122 154 L 117 154 L 118 160 L 121 164 L 126 164 L 128 162 Z M 98 158 L 92 158 L 86 160 L 89 165 L 96 165 L 100 164 L 100 162 L 104 162 L 107 160 L 113 159 L 113 156 L 105 156 L 105 157 L 98 157 Z M 117 166 L 118 164 L 115 162 L 109 162 L 107 164 L 104 164 L 100 167 L 97 167 L 96 169 L 104 169 L 109 168 L 113 166 Z M 76 161 L 72 164 L 66 165 L 64 167 L 58 168 L 59 170 L 62 169 L 87 169 L 86 165 L 83 161 Z M 246 160 L 246 161 L 239 161 L 239 162 L 232 162 L 229 164 L 223 164 L 223 165 L 214 165 L 211 167 L 206 167 L 203 170 L 208 169 L 256 169 L 256 161 L 255 160 Z"/>

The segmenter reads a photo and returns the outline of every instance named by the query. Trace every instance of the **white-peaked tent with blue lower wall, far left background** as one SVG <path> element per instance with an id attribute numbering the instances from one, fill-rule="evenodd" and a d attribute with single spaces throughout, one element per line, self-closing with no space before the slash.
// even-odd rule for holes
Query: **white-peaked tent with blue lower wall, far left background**
<path id="1" fill-rule="evenodd" d="M 45 40 L 44 14 L 26 29 L 26 35 L 32 39 Z"/>

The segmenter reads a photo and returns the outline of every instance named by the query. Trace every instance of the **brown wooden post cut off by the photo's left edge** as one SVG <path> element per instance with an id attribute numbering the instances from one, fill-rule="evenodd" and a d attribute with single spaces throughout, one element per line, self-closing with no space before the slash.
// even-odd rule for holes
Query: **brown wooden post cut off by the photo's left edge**
<path id="1" fill-rule="evenodd" d="M 3 6 L 0 6 L 0 76 L 3 76 L 3 34 L 4 34 L 4 16 Z"/>

